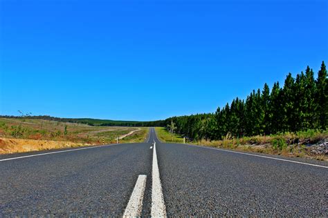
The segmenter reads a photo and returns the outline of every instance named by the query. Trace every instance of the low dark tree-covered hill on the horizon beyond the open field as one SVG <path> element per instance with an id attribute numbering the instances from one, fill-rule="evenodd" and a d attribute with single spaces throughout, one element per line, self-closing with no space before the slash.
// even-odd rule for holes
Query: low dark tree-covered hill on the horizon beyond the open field
<path id="1" fill-rule="evenodd" d="M 51 117 L 48 115 L 39 115 L 39 116 L 6 116 L 0 115 L 1 118 L 28 118 L 28 119 L 45 119 L 51 121 L 62 121 L 69 123 L 84 123 L 90 126 L 165 126 L 165 121 L 116 121 L 111 119 L 91 119 L 91 118 L 60 118 L 60 117 Z"/>

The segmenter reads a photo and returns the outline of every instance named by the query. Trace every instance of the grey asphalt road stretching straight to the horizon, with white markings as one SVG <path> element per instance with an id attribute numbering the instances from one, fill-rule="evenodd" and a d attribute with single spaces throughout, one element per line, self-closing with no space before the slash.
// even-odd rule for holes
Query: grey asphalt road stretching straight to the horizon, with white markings
<path id="1" fill-rule="evenodd" d="M 122 216 L 139 200 L 143 216 L 327 217 L 327 163 L 268 157 L 161 143 L 154 129 L 145 143 L 0 155 L 0 217 Z"/>

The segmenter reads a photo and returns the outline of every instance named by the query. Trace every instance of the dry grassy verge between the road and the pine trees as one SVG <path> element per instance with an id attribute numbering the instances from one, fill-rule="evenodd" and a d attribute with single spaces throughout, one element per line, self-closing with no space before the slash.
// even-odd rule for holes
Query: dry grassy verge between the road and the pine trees
<path id="1" fill-rule="evenodd" d="M 175 134 L 172 140 L 170 132 L 167 132 L 165 128 L 155 129 L 157 136 L 161 141 L 183 143 L 183 137 Z M 318 130 L 307 130 L 296 133 L 286 132 L 279 135 L 242 137 L 239 139 L 227 135 L 223 140 L 200 140 L 191 141 L 190 143 L 199 146 L 211 146 L 246 152 L 259 152 L 286 157 L 304 157 L 328 161 L 327 155 L 313 155 L 310 152 L 311 145 L 327 139 L 327 131 L 320 132 Z"/>

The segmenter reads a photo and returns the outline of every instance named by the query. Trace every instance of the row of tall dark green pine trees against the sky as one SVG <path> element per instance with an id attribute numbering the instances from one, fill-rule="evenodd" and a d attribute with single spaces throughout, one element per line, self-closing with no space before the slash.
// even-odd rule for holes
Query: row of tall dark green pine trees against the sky
<path id="1" fill-rule="evenodd" d="M 300 130 L 326 130 L 328 119 L 327 70 L 322 61 L 318 77 L 307 67 L 305 72 L 287 75 L 284 86 L 274 83 L 272 89 L 264 84 L 244 99 L 236 98 L 230 105 L 217 108 L 215 113 L 171 117 L 176 132 L 192 139 L 222 139 L 271 135 Z"/>

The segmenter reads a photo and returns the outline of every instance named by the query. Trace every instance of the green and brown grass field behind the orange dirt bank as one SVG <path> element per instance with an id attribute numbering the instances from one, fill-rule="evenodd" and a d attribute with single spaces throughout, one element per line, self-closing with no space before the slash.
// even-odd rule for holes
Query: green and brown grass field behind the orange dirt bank
<path id="1" fill-rule="evenodd" d="M 2 139 L 58 141 L 58 145 L 63 141 L 71 142 L 72 145 L 76 143 L 79 146 L 116 143 L 117 137 L 127 135 L 134 130 L 138 131 L 120 139 L 119 142 L 140 142 L 146 139 L 148 129 L 144 127 L 88 126 L 81 123 L 66 123 L 42 119 L 0 118 L 0 137 Z"/>

